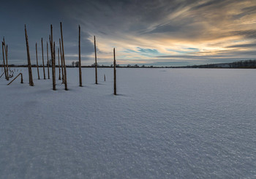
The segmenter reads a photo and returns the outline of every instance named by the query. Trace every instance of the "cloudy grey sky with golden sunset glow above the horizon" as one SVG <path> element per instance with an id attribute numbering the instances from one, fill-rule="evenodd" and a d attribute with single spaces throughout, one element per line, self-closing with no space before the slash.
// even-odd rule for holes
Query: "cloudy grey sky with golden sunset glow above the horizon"
<path id="1" fill-rule="evenodd" d="M 255 0 L 52 0 L 1 1 L 0 38 L 9 64 L 27 64 L 24 25 L 31 63 L 42 64 L 49 41 L 59 47 L 63 24 L 66 64 L 78 61 L 81 27 L 82 65 L 186 66 L 256 59 Z M 57 50 L 56 50 L 57 51 Z M 0 53 L 2 64 L 2 52 Z"/>

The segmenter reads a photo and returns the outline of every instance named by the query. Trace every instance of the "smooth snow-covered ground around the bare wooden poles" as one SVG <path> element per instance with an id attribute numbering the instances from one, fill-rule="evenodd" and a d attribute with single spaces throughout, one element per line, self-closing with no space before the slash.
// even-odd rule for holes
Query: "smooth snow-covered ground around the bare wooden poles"
<path id="1" fill-rule="evenodd" d="M 69 91 L 20 70 L 0 79 L 0 178 L 256 178 L 255 69 L 117 69 L 118 96 L 113 69 L 67 69 Z"/>

